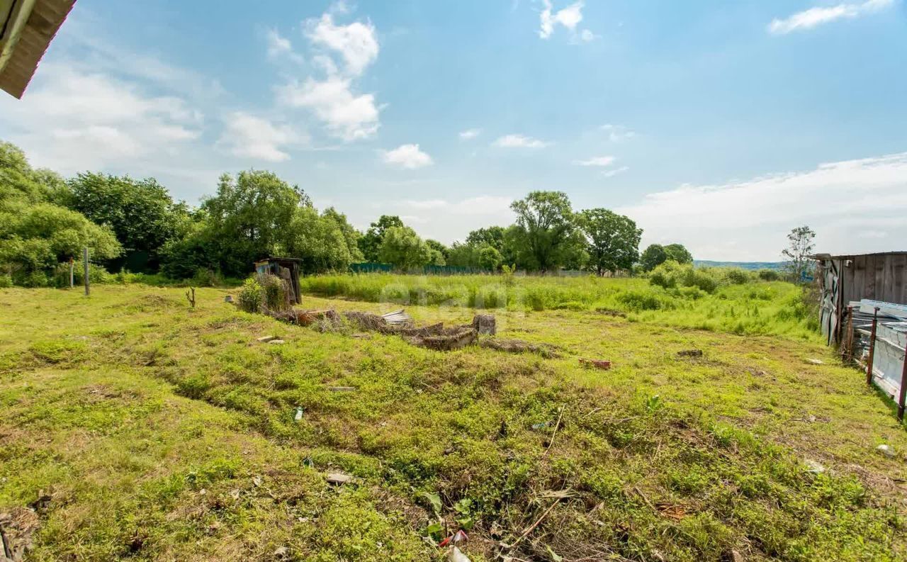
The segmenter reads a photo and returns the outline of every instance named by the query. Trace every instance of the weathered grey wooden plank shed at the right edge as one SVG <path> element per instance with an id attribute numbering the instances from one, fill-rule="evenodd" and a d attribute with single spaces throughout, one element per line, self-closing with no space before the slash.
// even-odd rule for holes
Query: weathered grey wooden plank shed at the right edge
<path id="1" fill-rule="evenodd" d="M 822 334 L 828 344 L 841 342 L 844 312 L 852 301 L 907 305 L 907 252 L 812 257 L 819 262 Z"/>

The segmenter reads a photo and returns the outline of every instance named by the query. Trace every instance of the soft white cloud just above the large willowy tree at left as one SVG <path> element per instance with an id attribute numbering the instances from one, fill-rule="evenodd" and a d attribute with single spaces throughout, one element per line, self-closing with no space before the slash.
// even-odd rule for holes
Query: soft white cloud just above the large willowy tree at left
<path id="1" fill-rule="evenodd" d="M 275 125 L 244 111 L 234 111 L 227 116 L 218 144 L 234 156 L 280 162 L 289 159 L 285 147 L 306 140 L 305 134 L 287 125 Z"/>

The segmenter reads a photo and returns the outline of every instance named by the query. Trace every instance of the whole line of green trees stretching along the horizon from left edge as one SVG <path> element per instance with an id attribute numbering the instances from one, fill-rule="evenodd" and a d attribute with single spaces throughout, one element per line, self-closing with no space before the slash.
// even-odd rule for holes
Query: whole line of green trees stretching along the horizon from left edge
<path id="1" fill-rule="evenodd" d="M 268 256 L 297 257 L 306 273 L 369 261 L 401 270 L 507 265 L 603 275 L 693 259 L 679 244 L 640 254 L 642 229 L 632 219 L 607 208 L 574 211 L 561 191 L 533 191 L 511 208 L 511 226 L 479 228 L 448 247 L 419 237 L 396 216 L 360 232 L 336 208 L 319 211 L 305 190 L 267 170 L 223 174 L 217 191 L 192 208 L 156 179 L 91 171 L 63 179 L 32 168 L 22 150 L 0 142 L 0 275 L 21 285 L 53 284 L 83 247 L 110 270 L 180 279 L 200 271 L 246 276 Z"/>

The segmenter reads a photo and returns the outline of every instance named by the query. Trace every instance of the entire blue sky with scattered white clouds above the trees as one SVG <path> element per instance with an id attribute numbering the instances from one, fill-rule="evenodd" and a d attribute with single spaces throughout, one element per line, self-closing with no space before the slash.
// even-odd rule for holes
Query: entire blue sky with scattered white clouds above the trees
<path id="1" fill-rule="evenodd" d="M 775 260 L 905 249 L 902 0 L 79 0 L 0 138 L 197 202 L 275 170 L 360 228 L 444 242 L 532 189 L 644 244 Z"/>

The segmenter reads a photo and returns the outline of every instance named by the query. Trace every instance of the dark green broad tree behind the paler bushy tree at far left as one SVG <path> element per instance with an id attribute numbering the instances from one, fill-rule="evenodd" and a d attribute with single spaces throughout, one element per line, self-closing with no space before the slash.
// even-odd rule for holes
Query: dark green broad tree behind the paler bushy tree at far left
<path id="1" fill-rule="evenodd" d="M 154 178 L 84 172 L 66 185 L 67 206 L 112 228 L 126 252 L 127 268 L 156 269 L 161 247 L 186 234 L 188 209 L 174 203 L 170 192 Z"/>

